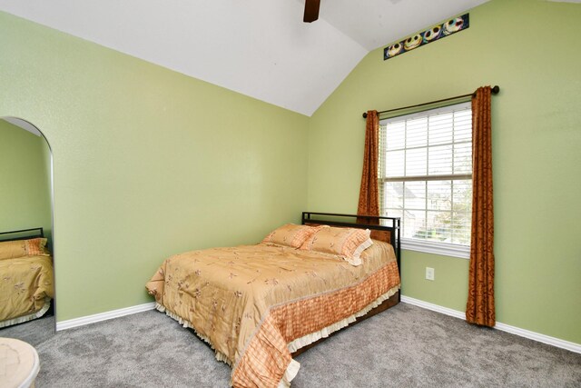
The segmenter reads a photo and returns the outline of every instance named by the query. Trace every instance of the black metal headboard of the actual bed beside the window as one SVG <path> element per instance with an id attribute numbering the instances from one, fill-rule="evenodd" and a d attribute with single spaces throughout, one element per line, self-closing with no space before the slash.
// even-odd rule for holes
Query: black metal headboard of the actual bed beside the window
<path id="1" fill-rule="evenodd" d="M 398 268 L 401 273 L 401 235 L 399 217 L 383 217 L 378 215 L 334 214 L 302 212 L 301 224 L 327 224 L 333 226 L 347 226 L 366 228 L 371 231 L 388 232 L 390 244 L 398 259 Z"/>

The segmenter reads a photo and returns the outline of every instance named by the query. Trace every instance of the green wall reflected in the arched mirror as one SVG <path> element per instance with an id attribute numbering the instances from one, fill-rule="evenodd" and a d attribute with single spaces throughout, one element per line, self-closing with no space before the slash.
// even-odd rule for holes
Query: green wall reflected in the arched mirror
<path id="1" fill-rule="evenodd" d="M 43 227 L 50 239 L 49 177 L 44 138 L 0 120 L 0 232 Z"/>

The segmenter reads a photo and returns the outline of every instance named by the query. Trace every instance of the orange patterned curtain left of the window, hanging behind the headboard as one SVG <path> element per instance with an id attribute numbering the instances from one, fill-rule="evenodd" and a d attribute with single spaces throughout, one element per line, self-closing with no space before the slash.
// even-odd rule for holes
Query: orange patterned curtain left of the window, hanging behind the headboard
<path id="1" fill-rule="evenodd" d="M 363 173 L 359 189 L 357 214 L 379 215 L 379 117 L 378 111 L 368 111 L 365 127 L 365 151 L 363 154 Z M 377 220 L 359 219 L 358 222 L 378 224 Z"/>

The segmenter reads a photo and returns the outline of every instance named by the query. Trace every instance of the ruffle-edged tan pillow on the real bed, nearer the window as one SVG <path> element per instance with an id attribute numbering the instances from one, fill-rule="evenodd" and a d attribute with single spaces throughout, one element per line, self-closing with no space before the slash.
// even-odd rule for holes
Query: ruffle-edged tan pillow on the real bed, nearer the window
<path id="1" fill-rule="evenodd" d="M 312 234 L 300 249 L 338 255 L 349 264 L 360 265 L 361 253 L 373 244 L 370 233 L 369 229 L 322 228 Z"/>

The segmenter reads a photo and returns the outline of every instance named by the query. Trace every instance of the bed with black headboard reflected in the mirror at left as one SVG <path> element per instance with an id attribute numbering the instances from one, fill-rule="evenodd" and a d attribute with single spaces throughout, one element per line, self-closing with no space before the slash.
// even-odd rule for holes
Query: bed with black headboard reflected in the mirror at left
<path id="1" fill-rule="evenodd" d="M 43 228 L 0 233 L 0 328 L 40 318 L 54 298 Z"/>

